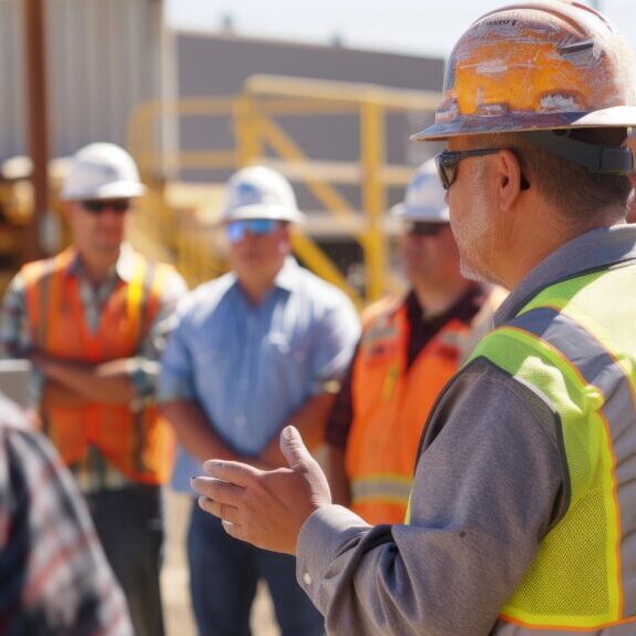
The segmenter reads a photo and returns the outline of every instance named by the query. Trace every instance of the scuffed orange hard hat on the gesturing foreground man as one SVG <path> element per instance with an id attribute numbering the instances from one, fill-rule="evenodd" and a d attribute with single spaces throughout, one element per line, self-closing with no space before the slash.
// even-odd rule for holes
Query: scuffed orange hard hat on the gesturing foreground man
<path id="1" fill-rule="evenodd" d="M 418 141 L 636 125 L 636 63 L 602 13 L 537 0 L 476 20 L 447 63 L 443 101 Z"/>

